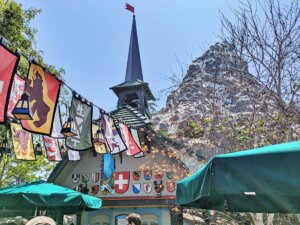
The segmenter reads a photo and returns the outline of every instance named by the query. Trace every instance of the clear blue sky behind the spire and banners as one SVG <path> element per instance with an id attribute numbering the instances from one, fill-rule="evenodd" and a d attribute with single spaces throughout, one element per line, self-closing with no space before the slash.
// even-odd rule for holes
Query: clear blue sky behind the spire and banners
<path id="1" fill-rule="evenodd" d="M 119 0 L 17 0 L 42 9 L 31 23 L 44 61 L 66 71 L 65 82 L 105 111 L 117 96 L 109 88 L 124 82 L 132 13 Z M 144 81 L 157 109 L 172 71 L 181 75 L 193 59 L 219 41 L 220 11 L 229 18 L 238 0 L 128 0 L 135 7 Z M 181 62 L 178 63 L 178 60 Z M 180 66 L 181 65 L 181 66 Z"/>

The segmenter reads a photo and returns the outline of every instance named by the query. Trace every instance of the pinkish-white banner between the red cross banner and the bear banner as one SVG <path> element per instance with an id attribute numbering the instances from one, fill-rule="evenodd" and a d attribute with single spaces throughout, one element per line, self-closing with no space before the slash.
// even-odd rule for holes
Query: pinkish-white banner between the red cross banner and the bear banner
<path id="1" fill-rule="evenodd" d="M 11 91 L 10 91 L 10 97 L 9 97 L 9 103 L 7 109 L 7 116 L 10 118 L 14 118 L 11 112 L 15 108 L 18 100 L 21 98 L 21 95 L 24 92 L 24 87 L 25 87 L 25 80 L 19 75 L 15 75 L 11 87 Z"/>

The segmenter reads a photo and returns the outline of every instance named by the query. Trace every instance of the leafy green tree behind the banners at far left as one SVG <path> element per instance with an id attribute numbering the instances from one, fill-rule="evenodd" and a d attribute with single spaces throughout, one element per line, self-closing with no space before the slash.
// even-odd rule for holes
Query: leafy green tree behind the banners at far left
<path id="1" fill-rule="evenodd" d="M 0 36 L 9 41 L 8 47 L 16 48 L 25 53 L 21 56 L 18 73 L 26 76 L 28 59 L 34 58 L 39 64 L 45 66 L 56 76 L 64 74 L 63 69 L 56 69 L 43 61 L 41 51 L 35 50 L 37 30 L 30 26 L 30 22 L 41 12 L 40 9 L 29 8 L 24 10 L 22 5 L 13 0 L 0 0 Z M 8 133 L 9 124 L 0 127 L 0 140 Z M 44 153 L 45 154 L 45 153 Z M 30 182 L 36 179 L 45 179 L 54 168 L 55 163 L 48 162 L 45 155 L 37 158 L 37 161 L 17 160 L 13 153 L 3 154 L 0 158 L 0 187 L 9 184 Z"/>

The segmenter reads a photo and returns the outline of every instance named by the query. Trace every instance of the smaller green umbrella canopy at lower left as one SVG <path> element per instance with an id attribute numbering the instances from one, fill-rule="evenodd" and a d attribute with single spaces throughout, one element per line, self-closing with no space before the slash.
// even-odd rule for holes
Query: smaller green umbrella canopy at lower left
<path id="1" fill-rule="evenodd" d="M 0 189 L 1 208 L 65 207 L 99 209 L 102 200 L 44 181 Z M 0 208 L 0 209 L 1 209 Z"/>

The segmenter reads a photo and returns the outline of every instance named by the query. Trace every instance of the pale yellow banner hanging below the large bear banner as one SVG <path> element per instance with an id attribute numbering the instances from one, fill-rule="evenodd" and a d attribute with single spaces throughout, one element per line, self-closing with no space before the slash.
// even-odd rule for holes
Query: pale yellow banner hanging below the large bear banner
<path id="1" fill-rule="evenodd" d="M 10 127 L 16 158 L 35 160 L 31 133 L 23 130 L 20 124 L 11 123 Z"/>

